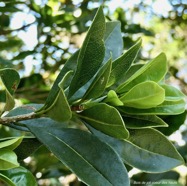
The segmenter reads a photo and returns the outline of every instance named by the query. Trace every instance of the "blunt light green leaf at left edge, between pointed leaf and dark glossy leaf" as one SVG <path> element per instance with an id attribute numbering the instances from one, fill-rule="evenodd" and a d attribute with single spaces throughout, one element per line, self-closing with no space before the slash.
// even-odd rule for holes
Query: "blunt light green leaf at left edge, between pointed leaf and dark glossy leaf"
<path id="1" fill-rule="evenodd" d="M 0 150 L 0 170 L 12 169 L 18 166 L 17 156 L 12 150 Z"/>

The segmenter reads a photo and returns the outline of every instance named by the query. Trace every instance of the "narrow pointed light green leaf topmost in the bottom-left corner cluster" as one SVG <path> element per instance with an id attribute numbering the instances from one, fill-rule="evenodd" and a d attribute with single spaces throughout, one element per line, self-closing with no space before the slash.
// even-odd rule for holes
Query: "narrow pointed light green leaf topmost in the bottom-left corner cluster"
<path id="1" fill-rule="evenodd" d="M 21 143 L 23 137 L 15 137 L 9 140 L 0 139 L 0 149 L 9 149 L 9 150 L 14 150 L 19 144 Z"/>

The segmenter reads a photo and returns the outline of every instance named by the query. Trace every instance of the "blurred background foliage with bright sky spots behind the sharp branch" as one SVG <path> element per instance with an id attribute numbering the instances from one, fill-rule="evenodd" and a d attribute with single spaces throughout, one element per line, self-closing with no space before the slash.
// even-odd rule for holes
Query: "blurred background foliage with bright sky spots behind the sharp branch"
<path id="1" fill-rule="evenodd" d="M 124 49 L 142 37 L 137 62 L 165 52 L 172 75 L 167 81 L 187 93 L 187 0 L 4 0 L 0 1 L 0 67 L 19 71 L 22 79 L 17 99 L 22 103 L 44 102 L 59 70 L 81 46 L 101 4 L 107 20 L 121 22 Z M 173 128 L 162 132 L 171 140 L 178 139 L 173 141 L 186 160 L 185 117 L 186 113 L 179 118 L 166 118 Z M 19 132 L 1 127 L 0 135 Z M 68 185 L 68 179 L 69 185 L 83 185 L 44 147 L 22 163 L 36 175 L 39 185 Z M 174 179 L 187 185 L 187 168 L 183 166 L 183 173 L 178 172 L 157 176 L 139 173 L 132 180 Z"/>

